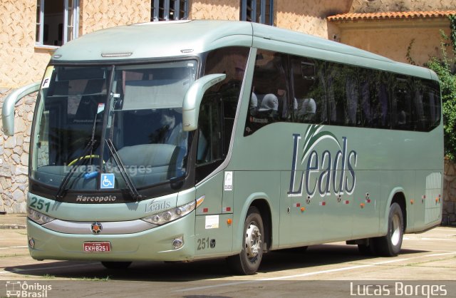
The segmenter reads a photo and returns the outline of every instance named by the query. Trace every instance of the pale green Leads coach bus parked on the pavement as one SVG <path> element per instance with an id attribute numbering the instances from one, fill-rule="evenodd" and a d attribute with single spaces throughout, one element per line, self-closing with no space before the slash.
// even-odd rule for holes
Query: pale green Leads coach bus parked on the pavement
<path id="1" fill-rule="evenodd" d="M 224 257 L 254 274 L 265 252 L 328 242 L 395 256 L 442 218 L 427 68 L 273 26 L 165 21 L 81 36 L 35 86 L 36 260 Z"/>

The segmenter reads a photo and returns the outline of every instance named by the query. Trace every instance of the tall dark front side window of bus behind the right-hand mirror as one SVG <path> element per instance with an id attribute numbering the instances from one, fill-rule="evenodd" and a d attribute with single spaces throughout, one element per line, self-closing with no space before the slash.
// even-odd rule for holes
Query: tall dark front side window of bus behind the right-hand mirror
<path id="1" fill-rule="evenodd" d="M 222 163 L 229 150 L 249 48 L 218 48 L 207 54 L 204 75 L 227 78 L 204 94 L 199 109 L 197 181 Z"/>

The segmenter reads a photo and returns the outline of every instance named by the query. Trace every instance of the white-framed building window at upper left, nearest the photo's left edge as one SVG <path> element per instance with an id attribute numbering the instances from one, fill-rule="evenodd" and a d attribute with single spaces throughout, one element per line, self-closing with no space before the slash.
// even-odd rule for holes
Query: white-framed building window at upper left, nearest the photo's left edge
<path id="1" fill-rule="evenodd" d="M 79 0 L 36 0 L 36 44 L 61 46 L 78 37 Z"/>

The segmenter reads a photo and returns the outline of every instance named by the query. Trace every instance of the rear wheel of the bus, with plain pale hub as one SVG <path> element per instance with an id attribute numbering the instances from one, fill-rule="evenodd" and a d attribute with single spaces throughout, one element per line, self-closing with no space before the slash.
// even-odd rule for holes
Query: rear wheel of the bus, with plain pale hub
<path id="1" fill-rule="evenodd" d="M 393 203 L 388 215 L 388 234 L 374 239 L 375 251 L 378 255 L 394 257 L 400 252 L 404 234 L 404 218 L 400 205 Z"/>

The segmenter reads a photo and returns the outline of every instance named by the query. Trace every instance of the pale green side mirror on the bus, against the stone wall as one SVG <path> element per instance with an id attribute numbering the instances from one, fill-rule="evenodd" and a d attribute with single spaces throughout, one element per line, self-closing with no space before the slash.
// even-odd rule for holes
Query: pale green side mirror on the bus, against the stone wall
<path id="1" fill-rule="evenodd" d="M 6 96 L 1 109 L 1 122 L 3 123 L 3 131 L 5 135 L 14 135 L 14 106 L 24 96 L 38 91 L 40 82 L 28 84 L 24 87 L 18 88 Z"/>

